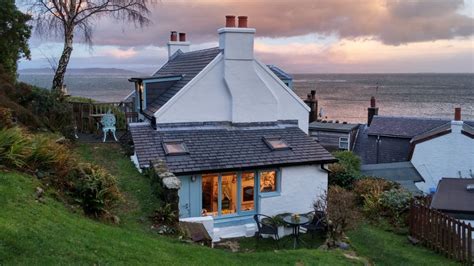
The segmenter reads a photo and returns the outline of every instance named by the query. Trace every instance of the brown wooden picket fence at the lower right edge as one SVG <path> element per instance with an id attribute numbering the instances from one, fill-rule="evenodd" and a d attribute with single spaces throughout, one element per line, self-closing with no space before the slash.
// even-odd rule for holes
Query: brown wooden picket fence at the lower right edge
<path id="1" fill-rule="evenodd" d="M 473 261 L 473 228 L 423 203 L 414 201 L 410 207 L 410 236 L 424 246 L 466 265 Z"/>

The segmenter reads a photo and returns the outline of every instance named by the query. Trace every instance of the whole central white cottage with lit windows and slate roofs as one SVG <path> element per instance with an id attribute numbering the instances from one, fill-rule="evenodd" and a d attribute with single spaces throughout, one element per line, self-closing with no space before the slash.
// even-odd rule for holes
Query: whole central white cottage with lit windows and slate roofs
<path id="1" fill-rule="evenodd" d="M 311 211 L 336 161 L 307 134 L 311 108 L 255 59 L 247 17 L 218 34 L 219 47 L 189 51 L 172 32 L 168 62 L 130 79 L 145 120 L 130 125 L 134 162 L 163 162 L 180 180 L 180 219 L 214 240 L 253 236 L 255 213 Z"/>

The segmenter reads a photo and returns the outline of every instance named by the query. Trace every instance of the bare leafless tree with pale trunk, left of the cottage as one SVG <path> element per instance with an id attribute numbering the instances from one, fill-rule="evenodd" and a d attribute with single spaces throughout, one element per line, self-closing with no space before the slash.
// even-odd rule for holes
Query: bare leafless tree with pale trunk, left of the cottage
<path id="1" fill-rule="evenodd" d="M 52 89 L 61 91 L 71 57 L 74 34 L 92 45 L 93 23 L 101 17 L 129 21 L 143 27 L 150 23 L 147 15 L 153 0 L 24 0 L 34 14 L 36 30 L 41 35 L 61 36 L 64 48 L 54 74 Z"/>

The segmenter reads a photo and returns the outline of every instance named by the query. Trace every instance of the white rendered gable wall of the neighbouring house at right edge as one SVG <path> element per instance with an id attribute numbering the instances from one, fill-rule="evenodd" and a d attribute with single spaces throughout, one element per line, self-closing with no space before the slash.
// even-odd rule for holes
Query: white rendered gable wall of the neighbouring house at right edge
<path id="1" fill-rule="evenodd" d="M 469 170 L 474 171 L 474 139 L 461 134 L 461 127 L 453 121 L 451 133 L 415 146 L 411 163 L 425 179 L 416 183 L 423 192 L 436 188 L 443 177 L 459 177 L 459 171 L 469 177 Z"/>

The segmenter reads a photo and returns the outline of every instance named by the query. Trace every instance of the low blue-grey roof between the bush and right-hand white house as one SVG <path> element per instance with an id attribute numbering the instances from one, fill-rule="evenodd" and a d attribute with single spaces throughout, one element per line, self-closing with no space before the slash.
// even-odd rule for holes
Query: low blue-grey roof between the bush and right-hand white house
<path id="1" fill-rule="evenodd" d="M 365 176 L 397 182 L 408 191 L 421 194 L 415 183 L 422 182 L 424 179 L 411 162 L 365 164 L 361 166 L 360 171 Z"/>

